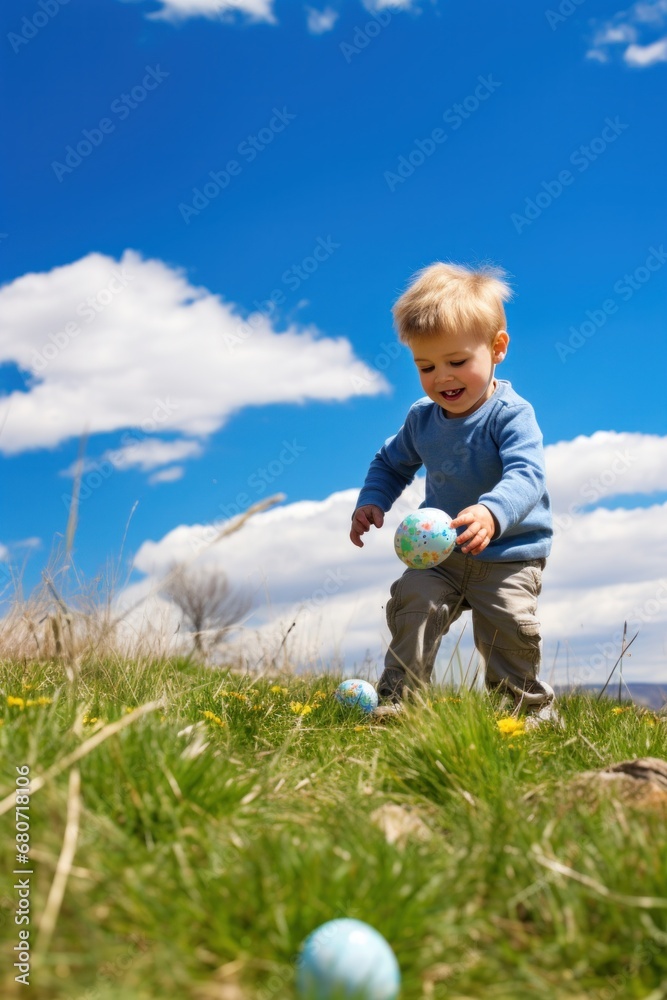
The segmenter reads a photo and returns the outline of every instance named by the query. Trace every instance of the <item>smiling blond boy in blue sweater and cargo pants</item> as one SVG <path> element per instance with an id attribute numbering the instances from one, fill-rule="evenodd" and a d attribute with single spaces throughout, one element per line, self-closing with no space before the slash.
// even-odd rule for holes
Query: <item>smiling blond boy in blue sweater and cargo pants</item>
<path id="1" fill-rule="evenodd" d="M 533 725 L 560 721 L 552 688 L 538 679 L 537 598 L 553 534 L 542 434 L 530 403 L 495 378 L 509 344 L 504 277 L 499 268 L 432 264 L 393 308 L 426 396 L 371 463 L 350 538 L 362 547 L 371 525 L 382 527 L 422 465 L 423 506 L 446 511 L 461 530 L 441 565 L 408 569 L 392 584 L 378 683 L 389 704 L 379 714 L 429 683 L 442 636 L 469 610 L 487 688 L 510 694 Z"/>

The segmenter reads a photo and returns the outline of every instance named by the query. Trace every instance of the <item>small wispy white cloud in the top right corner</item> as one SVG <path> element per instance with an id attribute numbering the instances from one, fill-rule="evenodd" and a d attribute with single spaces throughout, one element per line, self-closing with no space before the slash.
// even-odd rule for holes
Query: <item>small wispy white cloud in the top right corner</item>
<path id="1" fill-rule="evenodd" d="M 614 46 L 625 46 L 623 59 L 628 66 L 644 68 L 667 60 L 667 37 L 655 39 L 667 23 L 667 0 L 638 0 L 598 26 L 589 59 L 608 62 Z M 643 43 L 640 43 L 641 36 Z"/>

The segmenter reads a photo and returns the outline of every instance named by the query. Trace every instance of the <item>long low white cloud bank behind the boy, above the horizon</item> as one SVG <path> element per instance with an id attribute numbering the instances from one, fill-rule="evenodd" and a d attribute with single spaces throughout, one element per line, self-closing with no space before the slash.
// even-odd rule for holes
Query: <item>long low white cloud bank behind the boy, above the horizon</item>
<path id="1" fill-rule="evenodd" d="M 657 473 L 655 467 L 665 469 L 665 448 L 667 438 L 598 432 L 546 449 L 556 509 L 572 513 L 566 519 L 561 514 L 544 574 L 543 676 L 549 676 L 558 648 L 557 682 L 566 679 L 566 657 L 571 680 L 606 680 L 627 621 L 629 637 L 637 630 L 640 634 L 625 663 L 626 679 L 667 681 L 667 504 L 576 512 L 582 487 L 593 475 L 602 476 L 617 453 L 626 462 L 630 458 L 623 475 L 632 480 L 633 492 L 663 489 L 665 472 Z M 606 495 L 625 492 L 625 485 L 618 477 L 606 487 Z M 146 580 L 131 588 L 124 601 L 145 594 L 174 561 L 196 557 L 195 566 L 218 568 L 235 585 L 256 593 L 257 610 L 235 643 L 248 663 L 274 655 L 296 622 L 286 643 L 293 660 L 325 669 L 341 659 L 352 669 L 370 653 L 381 669 L 388 640 L 383 606 L 401 571 L 393 534 L 405 513 L 422 501 L 423 479 L 415 480 L 397 502 L 382 530 L 364 536 L 363 549 L 348 537 L 357 493 L 346 490 L 326 500 L 275 508 L 208 548 L 201 546 L 215 534 L 211 526 L 181 525 L 141 546 L 135 565 Z M 152 601 L 143 606 L 149 619 L 152 607 Z M 163 613 L 164 605 L 159 607 Z M 440 674 L 466 619 L 469 615 L 462 616 L 443 641 Z M 474 671 L 470 632 L 468 624 L 459 655 L 464 667 L 472 656 Z"/>

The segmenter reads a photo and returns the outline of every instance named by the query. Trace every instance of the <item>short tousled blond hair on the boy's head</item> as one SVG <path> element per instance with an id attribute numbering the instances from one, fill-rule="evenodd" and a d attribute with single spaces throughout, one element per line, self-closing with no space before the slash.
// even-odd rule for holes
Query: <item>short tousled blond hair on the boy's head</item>
<path id="1" fill-rule="evenodd" d="M 512 297 L 505 271 L 491 264 L 478 270 L 460 264 L 431 264 L 418 271 L 392 312 L 398 339 L 429 334 L 472 333 L 493 342 L 506 325 L 503 302 Z"/>

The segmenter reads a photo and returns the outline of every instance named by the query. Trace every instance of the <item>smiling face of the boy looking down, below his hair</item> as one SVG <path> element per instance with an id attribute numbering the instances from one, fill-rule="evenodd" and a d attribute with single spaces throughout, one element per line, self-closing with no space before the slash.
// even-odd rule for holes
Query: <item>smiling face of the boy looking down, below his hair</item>
<path id="1" fill-rule="evenodd" d="M 448 417 L 467 417 L 493 395 L 493 367 L 504 359 L 508 343 L 500 330 L 492 344 L 462 333 L 413 337 L 409 346 L 426 395 Z"/>

